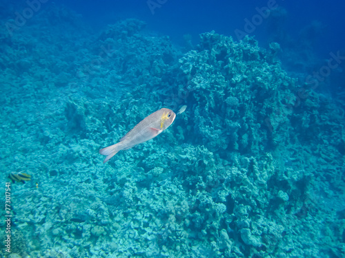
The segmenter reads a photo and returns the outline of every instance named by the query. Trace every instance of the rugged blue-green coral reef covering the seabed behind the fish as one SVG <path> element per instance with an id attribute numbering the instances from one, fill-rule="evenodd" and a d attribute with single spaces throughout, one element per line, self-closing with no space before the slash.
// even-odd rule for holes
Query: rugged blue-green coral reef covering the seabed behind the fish
<path id="1" fill-rule="evenodd" d="M 2 41 L 0 169 L 33 178 L 11 186 L 18 255 L 344 253 L 344 111 L 297 98 L 278 44 L 208 32 L 181 52 L 142 21 L 95 36 L 50 8 Z M 184 104 L 155 140 L 102 164 L 101 147 Z"/>

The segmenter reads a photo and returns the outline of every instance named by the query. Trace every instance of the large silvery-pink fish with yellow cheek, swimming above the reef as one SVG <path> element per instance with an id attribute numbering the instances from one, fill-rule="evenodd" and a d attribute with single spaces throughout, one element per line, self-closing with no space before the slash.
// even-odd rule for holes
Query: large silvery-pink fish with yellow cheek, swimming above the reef
<path id="1" fill-rule="evenodd" d="M 99 150 L 101 155 L 106 155 L 103 164 L 121 150 L 130 149 L 135 145 L 155 138 L 174 122 L 176 114 L 171 109 L 162 108 L 150 114 L 139 124 L 132 128 L 117 144 Z"/>

